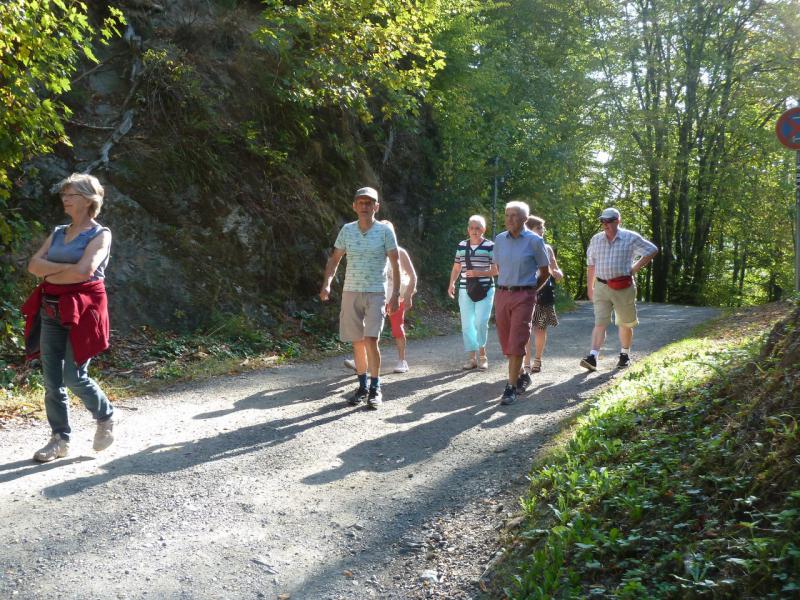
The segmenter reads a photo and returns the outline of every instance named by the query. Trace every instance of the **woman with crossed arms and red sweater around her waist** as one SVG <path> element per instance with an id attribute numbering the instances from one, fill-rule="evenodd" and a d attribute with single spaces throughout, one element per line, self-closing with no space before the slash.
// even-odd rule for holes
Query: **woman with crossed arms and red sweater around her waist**
<path id="1" fill-rule="evenodd" d="M 23 306 L 26 353 L 40 356 L 44 405 L 52 431 L 50 441 L 33 456 L 38 462 L 69 453 L 68 387 L 97 421 L 94 449 L 114 441 L 114 407 L 89 377 L 89 359 L 108 347 L 105 269 L 111 232 L 95 220 L 104 190 L 96 177 L 73 173 L 58 184 L 69 225 L 59 225 L 28 263 L 43 279 Z"/>

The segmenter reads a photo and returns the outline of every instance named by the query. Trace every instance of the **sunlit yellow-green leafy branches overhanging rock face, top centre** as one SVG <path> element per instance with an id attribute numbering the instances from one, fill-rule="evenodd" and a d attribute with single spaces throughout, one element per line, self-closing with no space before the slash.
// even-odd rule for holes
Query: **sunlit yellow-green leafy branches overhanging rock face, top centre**
<path id="1" fill-rule="evenodd" d="M 444 65 L 433 36 L 466 0 L 272 1 L 259 39 L 289 65 L 281 82 L 288 97 L 309 108 L 352 111 L 372 121 L 380 98 L 383 119 L 419 113 Z"/>

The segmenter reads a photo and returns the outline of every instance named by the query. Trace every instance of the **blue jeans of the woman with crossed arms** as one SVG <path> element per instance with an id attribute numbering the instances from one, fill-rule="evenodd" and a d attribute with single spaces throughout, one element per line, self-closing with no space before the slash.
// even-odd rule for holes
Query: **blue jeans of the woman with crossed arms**
<path id="1" fill-rule="evenodd" d="M 58 319 L 42 311 L 42 375 L 44 376 L 44 407 L 53 433 L 69 439 L 69 400 L 64 385 L 83 401 L 92 416 L 105 421 L 114 414 L 114 407 L 94 379 L 89 377 L 89 361 L 76 365 L 69 342 L 69 329 Z"/>

